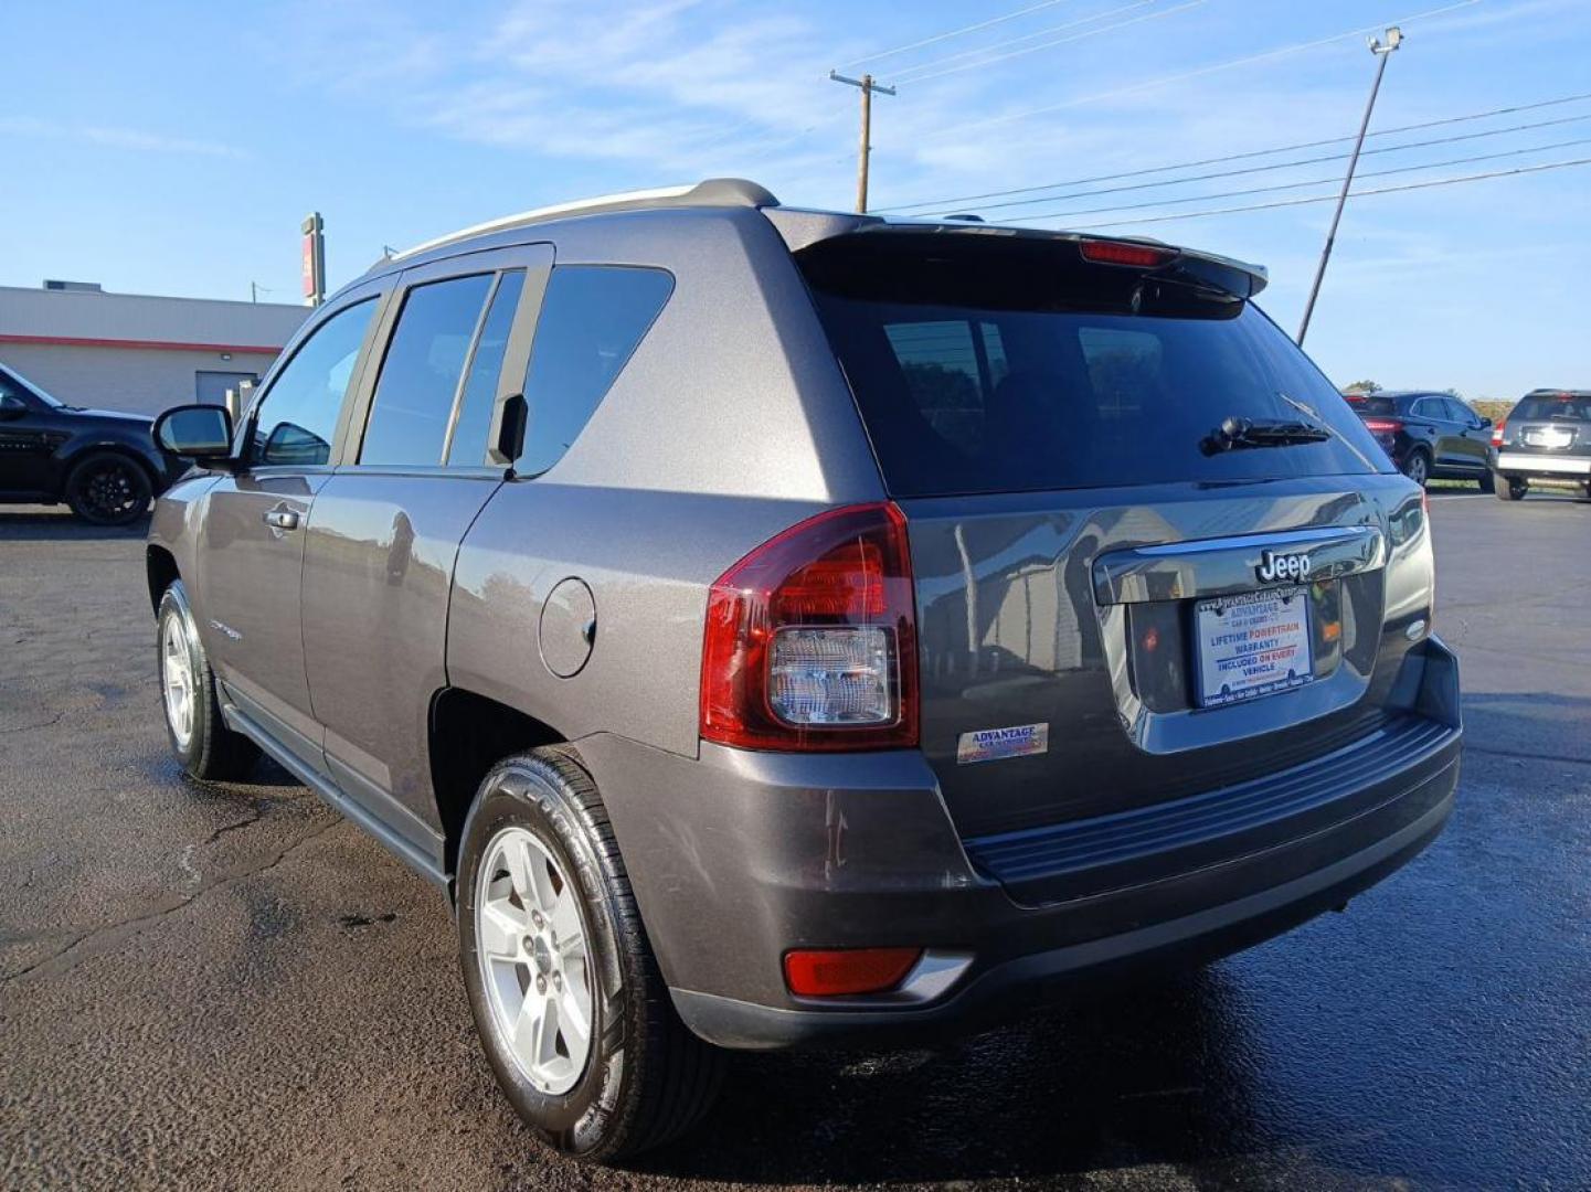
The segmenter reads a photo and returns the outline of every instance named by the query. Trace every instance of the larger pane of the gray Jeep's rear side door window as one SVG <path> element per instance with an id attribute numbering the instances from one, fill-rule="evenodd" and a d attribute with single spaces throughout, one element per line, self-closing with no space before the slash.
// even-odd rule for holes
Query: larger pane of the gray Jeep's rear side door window
<path id="1" fill-rule="evenodd" d="M 442 463 L 458 384 L 492 277 L 474 274 L 409 290 L 375 382 L 360 463 Z"/>

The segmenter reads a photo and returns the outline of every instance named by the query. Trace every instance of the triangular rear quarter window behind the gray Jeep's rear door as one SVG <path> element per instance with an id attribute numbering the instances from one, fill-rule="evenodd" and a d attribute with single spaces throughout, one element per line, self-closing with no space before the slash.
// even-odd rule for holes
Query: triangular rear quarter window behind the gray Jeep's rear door
<path id="1" fill-rule="evenodd" d="M 525 372 L 530 430 L 519 473 L 563 458 L 673 291 L 662 269 L 557 266 Z"/>

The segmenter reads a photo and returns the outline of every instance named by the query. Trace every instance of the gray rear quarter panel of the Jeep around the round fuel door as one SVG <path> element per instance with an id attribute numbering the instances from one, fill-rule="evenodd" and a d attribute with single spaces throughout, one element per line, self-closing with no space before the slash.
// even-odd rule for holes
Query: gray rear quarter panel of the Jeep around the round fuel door
<path id="1" fill-rule="evenodd" d="M 667 269 L 675 290 L 563 458 L 504 484 L 471 527 L 447 678 L 570 740 L 616 732 L 695 756 L 708 586 L 803 517 L 883 500 L 883 484 L 805 283 L 760 213 L 635 212 L 541 236 L 557 266 Z M 589 664 L 555 678 L 539 625 L 565 578 L 590 587 L 597 633 Z"/>

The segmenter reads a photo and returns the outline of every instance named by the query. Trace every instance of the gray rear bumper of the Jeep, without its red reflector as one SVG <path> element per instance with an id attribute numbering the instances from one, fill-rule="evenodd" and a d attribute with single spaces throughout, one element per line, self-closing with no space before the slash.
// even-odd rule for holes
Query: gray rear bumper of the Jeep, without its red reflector
<path id="1" fill-rule="evenodd" d="M 1352 765 L 1359 746 L 1333 753 L 1335 770 L 1321 759 L 1278 775 L 1266 797 L 1251 785 L 1161 804 L 1126 836 L 1106 823 L 1118 816 L 1068 826 L 1064 848 L 1048 863 L 1026 851 L 1020 872 L 956 836 L 916 751 L 703 746 L 692 761 L 595 737 L 581 753 L 697 1034 L 725 1047 L 943 1036 L 1079 982 L 1249 947 L 1413 858 L 1453 808 L 1461 729 L 1441 643 L 1405 668 L 1397 723 L 1413 729 L 1373 734 Z M 1316 772 L 1330 777 L 1309 786 Z M 875 998 L 786 991 L 786 950 L 867 945 L 929 949 L 932 972 Z"/>

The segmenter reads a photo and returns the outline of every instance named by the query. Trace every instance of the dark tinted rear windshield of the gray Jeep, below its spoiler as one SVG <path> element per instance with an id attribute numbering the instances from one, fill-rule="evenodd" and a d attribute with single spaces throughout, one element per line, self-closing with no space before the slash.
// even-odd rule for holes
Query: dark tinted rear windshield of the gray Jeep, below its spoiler
<path id="1" fill-rule="evenodd" d="M 1386 469 L 1359 417 L 1247 302 L 1080 261 L 1064 240 L 864 234 L 800 255 L 899 497 Z M 1206 454 L 1227 417 L 1322 442 Z"/>

